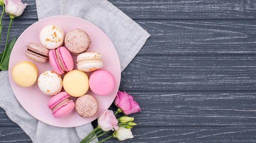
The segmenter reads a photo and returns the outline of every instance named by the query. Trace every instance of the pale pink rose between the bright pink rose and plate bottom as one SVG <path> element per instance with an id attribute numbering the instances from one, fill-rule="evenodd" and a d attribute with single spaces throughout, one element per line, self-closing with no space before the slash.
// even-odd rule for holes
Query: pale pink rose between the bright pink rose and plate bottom
<path id="1" fill-rule="evenodd" d="M 105 110 L 105 112 L 98 117 L 98 125 L 103 131 L 117 130 L 117 124 L 117 118 L 111 110 Z"/>

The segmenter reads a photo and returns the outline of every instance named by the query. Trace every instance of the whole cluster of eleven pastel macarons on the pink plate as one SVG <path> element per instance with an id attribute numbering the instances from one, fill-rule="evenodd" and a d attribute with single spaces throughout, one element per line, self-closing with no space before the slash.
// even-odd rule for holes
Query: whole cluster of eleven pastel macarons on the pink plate
<path id="1" fill-rule="evenodd" d="M 12 69 L 13 80 L 17 85 L 29 87 L 37 79 L 40 91 L 52 96 L 48 107 L 55 118 L 67 116 L 74 108 L 81 117 L 95 115 L 99 105 L 88 90 L 95 95 L 108 95 L 115 87 L 115 79 L 110 72 L 101 69 L 103 61 L 99 52 L 87 52 L 91 43 L 89 35 L 78 28 L 65 35 L 60 26 L 50 24 L 41 29 L 39 39 L 40 43 L 27 44 L 25 55 L 39 63 L 49 59 L 52 70 L 38 76 L 33 63 L 22 61 Z M 72 55 L 76 56 L 76 67 Z M 25 76 L 18 75 L 21 69 L 22 73 L 27 73 Z M 70 100 L 70 96 L 76 101 Z"/>

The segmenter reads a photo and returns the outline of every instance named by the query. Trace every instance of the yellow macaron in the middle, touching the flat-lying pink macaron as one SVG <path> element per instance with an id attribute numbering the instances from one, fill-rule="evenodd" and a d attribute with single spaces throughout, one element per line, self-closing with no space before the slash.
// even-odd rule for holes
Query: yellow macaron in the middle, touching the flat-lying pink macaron
<path id="1" fill-rule="evenodd" d="M 63 89 L 73 97 L 85 95 L 89 89 L 89 78 L 77 69 L 67 72 L 63 77 Z"/>

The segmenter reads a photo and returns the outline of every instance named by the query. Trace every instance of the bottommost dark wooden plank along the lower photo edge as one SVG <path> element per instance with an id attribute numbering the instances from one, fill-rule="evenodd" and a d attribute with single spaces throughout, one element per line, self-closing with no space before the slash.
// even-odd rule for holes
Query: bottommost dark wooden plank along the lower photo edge
<path id="1" fill-rule="evenodd" d="M 122 143 L 248 143 L 256 142 L 256 128 L 218 128 L 218 127 L 185 127 L 185 128 L 133 128 L 133 139 L 127 139 Z M 31 139 L 20 128 L 0 128 L 0 142 L 32 143 Z M 102 136 L 99 140 L 105 139 L 109 134 Z M 104 143 L 117 142 L 116 138 L 110 138 Z"/>

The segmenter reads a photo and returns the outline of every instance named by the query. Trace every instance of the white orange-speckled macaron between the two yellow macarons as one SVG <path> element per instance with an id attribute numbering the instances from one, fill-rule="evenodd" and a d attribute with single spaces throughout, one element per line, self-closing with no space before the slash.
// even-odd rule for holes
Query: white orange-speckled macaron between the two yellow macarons
<path id="1" fill-rule="evenodd" d="M 45 95 L 56 95 L 63 87 L 60 75 L 54 71 L 45 71 L 38 77 L 38 87 Z"/>

